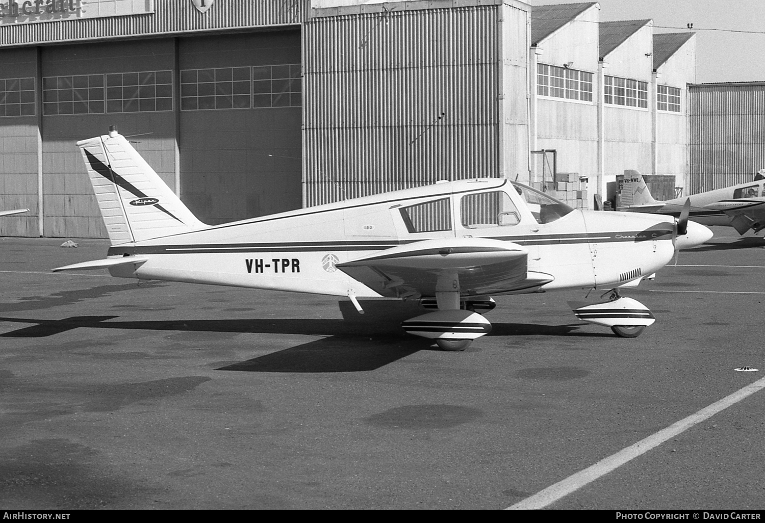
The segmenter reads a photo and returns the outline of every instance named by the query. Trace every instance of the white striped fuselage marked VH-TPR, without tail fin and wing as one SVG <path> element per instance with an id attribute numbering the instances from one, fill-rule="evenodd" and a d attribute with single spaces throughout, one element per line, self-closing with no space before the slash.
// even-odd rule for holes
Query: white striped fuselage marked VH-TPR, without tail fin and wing
<path id="1" fill-rule="evenodd" d="M 443 187 L 443 190 L 433 190 Z M 665 216 L 574 210 L 552 223 L 534 219 L 513 185 L 501 179 L 471 180 L 366 197 L 160 239 L 116 245 L 109 258 L 145 262 L 111 268 L 114 276 L 254 287 L 357 297 L 399 297 L 396 287 L 370 288 L 338 264 L 428 239 L 483 238 L 528 249 L 528 271 L 552 281 L 514 292 L 570 287 L 614 287 L 652 274 L 672 258 L 674 222 Z M 504 191 L 516 203 L 519 222 L 465 226 L 459 200 L 467 194 Z M 445 230 L 412 232 L 402 206 L 445 200 Z M 438 227 L 430 227 L 434 229 Z M 427 229 L 427 228 L 425 228 Z M 495 291 L 502 294 L 502 291 Z M 480 294 L 485 294 L 481 292 Z"/>

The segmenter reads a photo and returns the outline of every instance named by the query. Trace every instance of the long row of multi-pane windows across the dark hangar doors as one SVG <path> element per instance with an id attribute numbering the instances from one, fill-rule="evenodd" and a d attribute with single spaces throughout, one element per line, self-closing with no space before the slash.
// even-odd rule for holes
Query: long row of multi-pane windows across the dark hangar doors
<path id="1" fill-rule="evenodd" d="M 181 110 L 301 106 L 301 65 L 181 70 Z M 45 76 L 43 114 L 173 110 L 173 72 Z M 0 80 L 0 116 L 34 116 L 34 78 Z"/>

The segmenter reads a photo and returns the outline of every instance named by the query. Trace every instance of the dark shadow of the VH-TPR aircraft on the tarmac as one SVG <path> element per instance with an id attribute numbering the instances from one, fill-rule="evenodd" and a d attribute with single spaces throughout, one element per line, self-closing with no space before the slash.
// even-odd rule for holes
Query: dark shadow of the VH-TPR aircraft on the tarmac
<path id="1" fill-rule="evenodd" d="M 343 320 L 156 320 L 108 321 L 118 316 L 82 316 L 63 320 L 0 317 L 0 321 L 34 323 L 0 337 L 38 338 L 80 328 L 168 330 L 181 332 L 304 334 L 327 336 L 309 343 L 235 362 L 217 370 L 246 372 L 360 372 L 379 369 L 420 350 L 438 350 L 428 339 L 408 336 L 402 320 L 422 313 L 418 304 L 390 301 L 361 302 L 365 314 L 356 313 L 350 302 L 340 301 Z M 613 336 L 610 333 L 578 332 L 587 323 L 549 326 L 529 323 L 493 323 L 489 336 Z M 470 350 L 470 349 L 468 349 Z"/>

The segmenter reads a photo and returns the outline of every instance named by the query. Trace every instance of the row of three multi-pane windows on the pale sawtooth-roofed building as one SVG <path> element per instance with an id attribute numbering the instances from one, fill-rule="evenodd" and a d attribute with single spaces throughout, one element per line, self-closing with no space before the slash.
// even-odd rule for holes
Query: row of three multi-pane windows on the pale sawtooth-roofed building
<path id="1" fill-rule="evenodd" d="M 536 93 L 568 100 L 592 102 L 593 73 L 546 63 L 536 66 Z M 613 106 L 648 109 L 648 83 L 620 76 L 605 76 L 604 102 Z M 657 86 L 656 109 L 680 112 L 680 89 Z"/>

